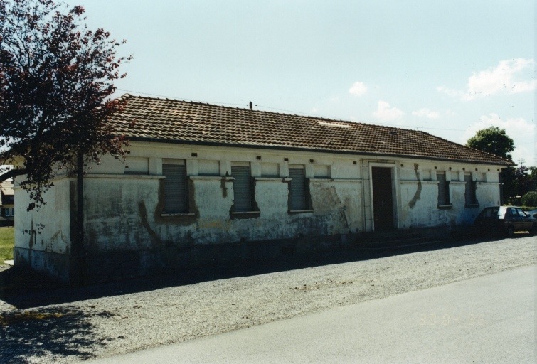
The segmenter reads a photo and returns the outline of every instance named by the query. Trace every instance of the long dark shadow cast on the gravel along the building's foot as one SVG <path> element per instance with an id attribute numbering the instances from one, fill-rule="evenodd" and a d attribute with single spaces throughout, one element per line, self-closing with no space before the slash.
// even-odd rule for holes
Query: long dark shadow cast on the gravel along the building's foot
<path id="1" fill-rule="evenodd" d="M 515 235 L 513 239 L 527 235 Z M 463 245 L 474 245 L 501 240 L 503 237 L 459 237 L 444 241 L 393 244 L 390 242 L 356 243 L 338 250 L 320 250 L 302 255 L 288 255 L 282 259 L 270 259 L 240 264 L 198 267 L 175 274 L 159 274 L 151 277 L 122 279 L 105 284 L 84 287 L 65 287 L 47 280 L 42 274 L 11 268 L 0 272 L 0 299 L 15 306 L 27 309 L 50 304 L 65 304 L 102 296 L 115 296 L 139 291 L 151 291 L 165 287 L 208 282 L 216 279 L 248 277 L 257 274 L 283 272 L 307 267 L 320 267 L 328 264 L 357 262 L 394 255 L 449 249 Z"/>

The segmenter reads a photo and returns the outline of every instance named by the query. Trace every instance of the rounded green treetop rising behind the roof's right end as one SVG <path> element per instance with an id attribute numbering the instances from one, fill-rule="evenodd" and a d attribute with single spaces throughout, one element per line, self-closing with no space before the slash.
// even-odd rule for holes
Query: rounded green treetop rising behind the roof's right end
<path id="1" fill-rule="evenodd" d="M 505 129 L 498 127 L 478 130 L 474 137 L 467 140 L 466 145 L 506 159 L 511 159 L 509 153 L 514 151 L 513 139 L 506 134 Z"/>

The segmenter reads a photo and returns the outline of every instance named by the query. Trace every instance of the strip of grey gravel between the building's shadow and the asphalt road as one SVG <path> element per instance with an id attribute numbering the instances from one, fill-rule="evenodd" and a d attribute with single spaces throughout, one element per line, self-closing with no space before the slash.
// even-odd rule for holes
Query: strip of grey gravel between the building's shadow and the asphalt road
<path id="1" fill-rule="evenodd" d="M 32 309 L 0 300 L 0 363 L 70 363 L 201 338 L 536 264 L 536 247 L 515 237 Z"/>

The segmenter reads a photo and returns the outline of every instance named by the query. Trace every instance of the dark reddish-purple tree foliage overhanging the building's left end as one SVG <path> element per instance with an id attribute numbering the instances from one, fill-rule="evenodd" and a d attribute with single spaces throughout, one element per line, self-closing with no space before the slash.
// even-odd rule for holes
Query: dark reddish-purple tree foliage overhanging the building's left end
<path id="1" fill-rule="evenodd" d="M 89 30 L 82 6 L 52 0 L 0 0 L 0 181 L 21 177 L 36 203 L 60 169 L 102 154 L 124 156 L 127 141 L 107 117 L 122 108 L 110 100 L 124 75 L 123 42 Z"/>

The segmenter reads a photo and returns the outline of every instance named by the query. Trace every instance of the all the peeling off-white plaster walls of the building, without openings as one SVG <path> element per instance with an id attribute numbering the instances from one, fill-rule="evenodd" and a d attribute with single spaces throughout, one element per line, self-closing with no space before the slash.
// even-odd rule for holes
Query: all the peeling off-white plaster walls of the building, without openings
<path id="1" fill-rule="evenodd" d="M 163 214 L 163 159 L 184 161 L 188 213 Z M 250 166 L 256 211 L 234 213 L 233 164 Z M 307 210 L 289 211 L 290 165 L 304 168 Z M 484 206 L 499 204 L 494 166 L 133 142 L 126 164 L 105 156 L 84 178 L 87 272 L 97 277 L 102 272 L 145 274 L 185 262 L 256 256 L 245 250 L 254 246 L 264 252 L 318 249 L 323 243 L 315 237 L 321 235 L 373 231 L 373 166 L 392 171 L 395 228 L 472 223 Z M 450 182 L 451 205 L 445 208 L 438 206 L 438 171 Z M 464 205 L 464 173 L 469 171 L 477 181 L 479 205 L 474 208 Z M 68 277 L 75 179 L 59 178 L 45 198 L 41 210 L 26 213 L 28 196 L 16 191 L 16 262 Z M 38 226 L 41 234 L 32 233 Z M 286 239 L 296 243 L 287 247 Z M 255 243 L 262 240 L 282 245 Z"/>

